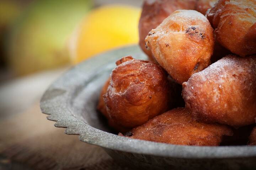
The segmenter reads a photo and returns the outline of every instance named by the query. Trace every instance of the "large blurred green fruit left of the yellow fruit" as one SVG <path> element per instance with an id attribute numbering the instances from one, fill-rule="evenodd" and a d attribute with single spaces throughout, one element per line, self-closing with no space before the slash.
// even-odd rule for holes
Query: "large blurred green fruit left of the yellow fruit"
<path id="1" fill-rule="evenodd" d="M 18 75 L 70 62 L 70 34 L 92 7 L 90 0 L 38 0 L 17 19 L 9 42 L 9 64 Z"/>

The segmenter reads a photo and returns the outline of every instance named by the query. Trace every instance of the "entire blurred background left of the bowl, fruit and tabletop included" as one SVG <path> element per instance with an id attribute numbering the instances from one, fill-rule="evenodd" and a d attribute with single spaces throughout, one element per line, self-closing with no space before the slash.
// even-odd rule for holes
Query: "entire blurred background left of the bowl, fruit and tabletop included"
<path id="1" fill-rule="evenodd" d="M 63 72 L 138 44 L 142 0 L 0 0 L 0 169 L 126 169 L 65 135 L 39 101 Z"/>

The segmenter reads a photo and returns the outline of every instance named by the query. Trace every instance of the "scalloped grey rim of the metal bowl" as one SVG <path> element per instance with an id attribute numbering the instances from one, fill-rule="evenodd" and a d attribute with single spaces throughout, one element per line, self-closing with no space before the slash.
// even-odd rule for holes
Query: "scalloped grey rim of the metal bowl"
<path id="1" fill-rule="evenodd" d="M 93 57 L 89 60 L 79 63 L 77 66 L 68 70 L 68 72 L 62 75 L 62 78 L 68 76 L 69 72 L 76 72 L 76 69 L 83 64 L 90 64 L 96 58 L 104 58 L 105 55 L 114 55 L 116 51 L 140 51 L 139 47 L 128 46 L 121 49 L 108 51 Z M 89 65 L 88 65 L 89 66 Z M 160 157 L 171 158 L 186 158 L 186 159 L 203 159 L 203 158 L 246 158 L 256 157 L 256 146 L 184 146 L 184 145 L 171 145 L 166 143 L 158 143 L 144 140 L 137 140 L 118 136 L 96 129 L 81 120 L 77 119 L 65 109 L 55 109 L 57 106 L 52 102 L 44 102 L 47 98 L 56 97 L 52 89 L 55 87 L 55 81 L 48 90 L 44 93 L 41 101 L 40 108 L 42 113 L 49 114 L 47 119 L 56 121 L 54 126 L 59 128 L 66 128 L 65 133 L 69 135 L 79 135 L 79 139 L 83 142 L 101 146 L 103 148 L 129 152 L 138 154 L 155 155 Z M 62 103 L 65 104 L 65 103 Z"/>

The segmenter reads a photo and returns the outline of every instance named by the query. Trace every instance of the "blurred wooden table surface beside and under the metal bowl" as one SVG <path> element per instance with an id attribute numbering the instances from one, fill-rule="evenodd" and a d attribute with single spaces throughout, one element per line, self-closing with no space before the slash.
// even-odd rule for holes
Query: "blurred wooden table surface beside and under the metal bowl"
<path id="1" fill-rule="evenodd" d="M 5 94 L 0 95 L 0 169 L 128 169 L 102 148 L 79 141 L 77 135 L 64 134 L 65 129 L 55 128 L 41 113 L 43 91 L 62 72 L 33 75 L 0 86 L 0 94 Z M 28 83 L 33 85 L 22 86 Z"/>

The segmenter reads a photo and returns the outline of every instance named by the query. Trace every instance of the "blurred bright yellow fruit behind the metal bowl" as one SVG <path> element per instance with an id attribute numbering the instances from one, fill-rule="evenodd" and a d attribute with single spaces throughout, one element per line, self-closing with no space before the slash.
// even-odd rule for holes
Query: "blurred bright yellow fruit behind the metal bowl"
<path id="1" fill-rule="evenodd" d="M 70 54 L 78 63 L 114 47 L 138 43 L 140 8 L 107 5 L 88 13 L 70 41 Z"/>

